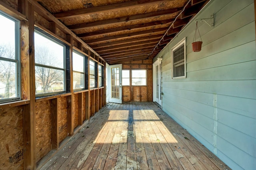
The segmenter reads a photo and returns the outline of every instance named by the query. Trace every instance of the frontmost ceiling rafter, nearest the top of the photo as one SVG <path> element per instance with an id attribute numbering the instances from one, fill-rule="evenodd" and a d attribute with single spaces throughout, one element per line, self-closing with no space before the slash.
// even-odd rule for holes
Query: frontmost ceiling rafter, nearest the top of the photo
<path id="1" fill-rule="evenodd" d="M 112 11 L 122 10 L 126 8 L 138 8 L 144 5 L 163 3 L 163 2 L 169 2 L 169 1 L 170 0 L 137 0 L 137 1 L 118 3 L 118 4 L 110 4 L 105 6 L 97 6 L 93 8 L 83 8 L 78 10 L 58 12 L 53 15 L 58 19 L 72 18 L 77 16 L 83 16 L 83 15 L 97 14 L 99 12 L 112 12 Z"/>

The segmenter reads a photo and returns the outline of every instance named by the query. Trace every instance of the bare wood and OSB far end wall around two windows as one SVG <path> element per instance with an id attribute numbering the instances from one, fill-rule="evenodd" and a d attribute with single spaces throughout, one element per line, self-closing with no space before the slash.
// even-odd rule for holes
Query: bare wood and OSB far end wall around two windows
<path id="1" fill-rule="evenodd" d="M 122 69 L 146 69 L 147 70 L 147 85 L 146 86 L 134 86 L 130 83 L 130 86 L 122 87 L 123 101 L 141 101 L 150 102 L 153 101 L 153 69 L 152 59 L 140 60 L 140 61 L 126 61 L 122 64 Z"/>

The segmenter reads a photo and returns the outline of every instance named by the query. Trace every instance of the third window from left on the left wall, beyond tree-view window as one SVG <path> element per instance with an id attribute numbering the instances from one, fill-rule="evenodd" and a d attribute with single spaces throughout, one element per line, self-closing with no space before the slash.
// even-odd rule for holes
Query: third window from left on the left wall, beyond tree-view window
<path id="1" fill-rule="evenodd" d="M 85 57 L 77 52 L 73 52 L 73 89 L 84 89 L 85 74 L 84 74 Z"/>

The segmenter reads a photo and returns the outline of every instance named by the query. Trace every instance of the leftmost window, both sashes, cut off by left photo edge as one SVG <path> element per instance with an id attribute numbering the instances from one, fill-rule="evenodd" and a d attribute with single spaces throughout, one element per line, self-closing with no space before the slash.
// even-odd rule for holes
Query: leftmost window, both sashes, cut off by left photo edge
<path id="1" fill-rule="evenodd" d="M 20 99 L 20 22 L 0 12 L 0 103 Z"/>

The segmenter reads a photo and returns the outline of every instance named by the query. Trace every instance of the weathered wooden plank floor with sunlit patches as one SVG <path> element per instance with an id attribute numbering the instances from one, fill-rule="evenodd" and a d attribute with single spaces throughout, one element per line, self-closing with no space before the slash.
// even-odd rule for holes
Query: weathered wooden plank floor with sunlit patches
<path id="1" fill-rule="evenodd" d="M 230 169 L 154 103 L 108 103 L 44 169 Z"/>

